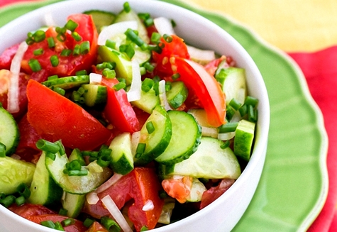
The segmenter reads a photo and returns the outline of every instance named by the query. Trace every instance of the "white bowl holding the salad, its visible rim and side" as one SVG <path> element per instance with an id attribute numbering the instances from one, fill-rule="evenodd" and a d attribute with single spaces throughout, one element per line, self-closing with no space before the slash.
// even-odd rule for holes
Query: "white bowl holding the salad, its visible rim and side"
<path id="1" fill-rule="evenodd" d="M 90 9 L 101 9 L 118 13 L 123 8 L 125 0 L 73 0 L 62 1 L 57 4 L 27 13 L 24 16 L 0 28 L 0 54 L 11 45 L 26 39 L 28 31 L 34 31 L 43 26 L 46 14 L 55 18 L 57 25 L 64 25 L 71 13 L 81 13 Z M 206 208 L 196 214 L 177 221 L 154 232 L 164 231 L 231 231 L 247 209 L 258 185 L 267 149 L 267 136 L 270 124 L 270 108 L 265 83 L 253 62 L 243 47 L 219 26 L 196 13 L 178 6 L 161 1 L 128 0 L 131 8 L 136 12 L 148 12 L 153 17 L 165 16 L 172 18 L 177 26 L 177 35 L 188 43 L 204 49 L 215 50 L 216 53 L 231 55 L 238 67 L 243 67 L 247 74 L 248 92 L 259 99 L 259 118 L 253 155 L 243 171 L 241 177 L 223 194 Z M 2 232 L 9 231 L 50 231 L 55 230 L 40 226 L 36 223 L 13 214 L 0 206 L 0 228 Z"/>

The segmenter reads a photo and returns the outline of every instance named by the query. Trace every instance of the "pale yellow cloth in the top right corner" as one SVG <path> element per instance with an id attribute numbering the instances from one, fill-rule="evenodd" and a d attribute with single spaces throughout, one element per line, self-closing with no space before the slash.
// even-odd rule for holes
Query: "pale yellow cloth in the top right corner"
<path id="1" fill-rule="evenodd" d="M 184 0 L 224 13 L 286 52 L 337 45 L 336 0 Z"/>

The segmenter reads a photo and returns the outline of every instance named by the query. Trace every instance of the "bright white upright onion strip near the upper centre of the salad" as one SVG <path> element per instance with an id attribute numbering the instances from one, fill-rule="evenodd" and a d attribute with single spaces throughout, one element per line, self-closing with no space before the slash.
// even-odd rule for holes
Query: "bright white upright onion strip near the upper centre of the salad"
<path id="1" fill-rule="evenodd" d="M 132 81 L 129 91 L 126 93 L 128 101 L 138 101 L 140 99 L 140 91 L 142 89 L 142 76 L 140 67 L 136 60 L 131 61 Z"/>

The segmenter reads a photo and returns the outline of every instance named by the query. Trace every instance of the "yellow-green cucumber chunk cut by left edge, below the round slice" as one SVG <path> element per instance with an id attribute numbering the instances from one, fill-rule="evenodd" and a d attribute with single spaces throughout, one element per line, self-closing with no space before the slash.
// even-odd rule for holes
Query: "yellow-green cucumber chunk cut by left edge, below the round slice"
<path id="1" fill-rule="evenodd" d="M 35 165 L 10 157 L 0 157 L 0 192 L 13 194 L 21 184 L 31 185 Z"/>

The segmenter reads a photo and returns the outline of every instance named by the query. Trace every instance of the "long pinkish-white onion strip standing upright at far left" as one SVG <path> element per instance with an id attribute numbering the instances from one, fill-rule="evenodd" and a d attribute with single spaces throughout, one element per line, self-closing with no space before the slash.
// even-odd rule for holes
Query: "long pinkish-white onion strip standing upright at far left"
<path id="1" fill-rule="evenodd" d="M 9 92 L 8 92 L 8 99 L 7 99 L 7 110 L 9 113 L 16 113 L 18 112 L 19 106 L 18 106 L 18 79 L 20 75 L 20 69 L 21 69 L 21 61 L 23 58 L 23 55 L 26 53 L 26 50 L 28 48 L 28 45 L 25 42 L 22 42 L 18 46 L 18 50 L 16 52 L 16 55 L 14 55 L 13 60 L 11 62 L 11 68 L 9 71 L 11 71 L 11 79 L 9 82 Z"/>

